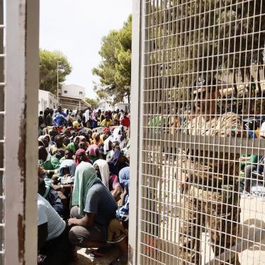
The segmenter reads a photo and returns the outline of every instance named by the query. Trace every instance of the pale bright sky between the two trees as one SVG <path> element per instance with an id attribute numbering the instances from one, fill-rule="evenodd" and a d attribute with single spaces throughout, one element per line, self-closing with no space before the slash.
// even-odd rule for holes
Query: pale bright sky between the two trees
<path id="1" fill-rule="evenodd" d="M 101 38 L 119 29 L 132 13 L 132 0 L 40 0 L 40 47 L 60 50 L 72 64 L 65 84 L 86 87 L 96 97 L 91 69 L 101 61 Z"/>

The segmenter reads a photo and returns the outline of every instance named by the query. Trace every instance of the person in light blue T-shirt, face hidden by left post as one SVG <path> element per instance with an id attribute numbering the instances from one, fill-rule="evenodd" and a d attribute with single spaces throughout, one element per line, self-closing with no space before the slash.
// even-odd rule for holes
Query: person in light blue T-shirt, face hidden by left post
<path id="1" fill-rule="evenodd" d="M 69 264 L 68 228 L 52 205 L 38 193 L 38 254 L 43 265 Z"/>

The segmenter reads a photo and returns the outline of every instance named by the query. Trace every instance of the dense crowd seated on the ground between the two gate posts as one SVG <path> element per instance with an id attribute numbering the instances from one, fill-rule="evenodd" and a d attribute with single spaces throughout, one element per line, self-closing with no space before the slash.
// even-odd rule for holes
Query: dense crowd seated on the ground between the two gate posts
<path id="1" fill-rule="evenodd" d="M 128 256 L 130 113 L 57 110 L 39 115 L 38 264 L 69 264 L 77 247 Z"/>

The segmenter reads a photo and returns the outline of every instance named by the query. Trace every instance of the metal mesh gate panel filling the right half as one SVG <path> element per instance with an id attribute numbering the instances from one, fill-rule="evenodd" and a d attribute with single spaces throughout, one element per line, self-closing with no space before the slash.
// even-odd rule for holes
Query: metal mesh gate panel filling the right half
<path id="1" fill-rule="evenodd" d="M 141 47 L 138 263 L 265 264 L 265 1 L 143 0 Z"/>

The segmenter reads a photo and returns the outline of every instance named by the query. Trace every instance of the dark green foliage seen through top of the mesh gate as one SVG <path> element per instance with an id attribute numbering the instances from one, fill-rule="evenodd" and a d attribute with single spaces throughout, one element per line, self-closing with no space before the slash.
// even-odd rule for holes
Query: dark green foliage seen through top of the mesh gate
<path id="1" fill-rule="evenodd" d="M 162 0 L 146 8 L 156 13 L 147 17 L 152 27 L 146 31 L 145 60 L 147 71 L 157 78 L 147 89 L 176 87 L 176 99 L 188 100 L 197 74 L 208 72 L 216 77 L 232 74 L 237 94 L 239 69 L 250 80 L 252 65 L 263 65 L 264 33 L 261 38 L 259 32 L 265 30 L 265 16 L 261 21 L 255 17 L 265 13 L 262 1 Z"/>

